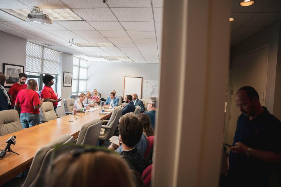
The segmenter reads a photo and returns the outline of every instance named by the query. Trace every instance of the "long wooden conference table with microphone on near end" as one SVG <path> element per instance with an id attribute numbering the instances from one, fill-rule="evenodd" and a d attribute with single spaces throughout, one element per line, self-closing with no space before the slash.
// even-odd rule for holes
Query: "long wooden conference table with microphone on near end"
<path id="1" fill-rule="evenodd" d="M 101 112 L 100 107 L 93 112 L 67 115 L 5 136 L 0 136 L 0 149 L 3 150 L 7 145 L 7 139 L 15 135 L 17 142 L 16 145 L 11 145 L 11 149 L 20 154 L 17 155 L 8 152 L 4 158 L 0 158 L 0 185 L 28 169 L 35 153 L 42 146 L 64 134 L 69 134 L 74 139 L 78 138 L 83 124 L 94 119 L 106 120 L 111 116 L 111 113 L 99 115 L 99 112 Z"/>

